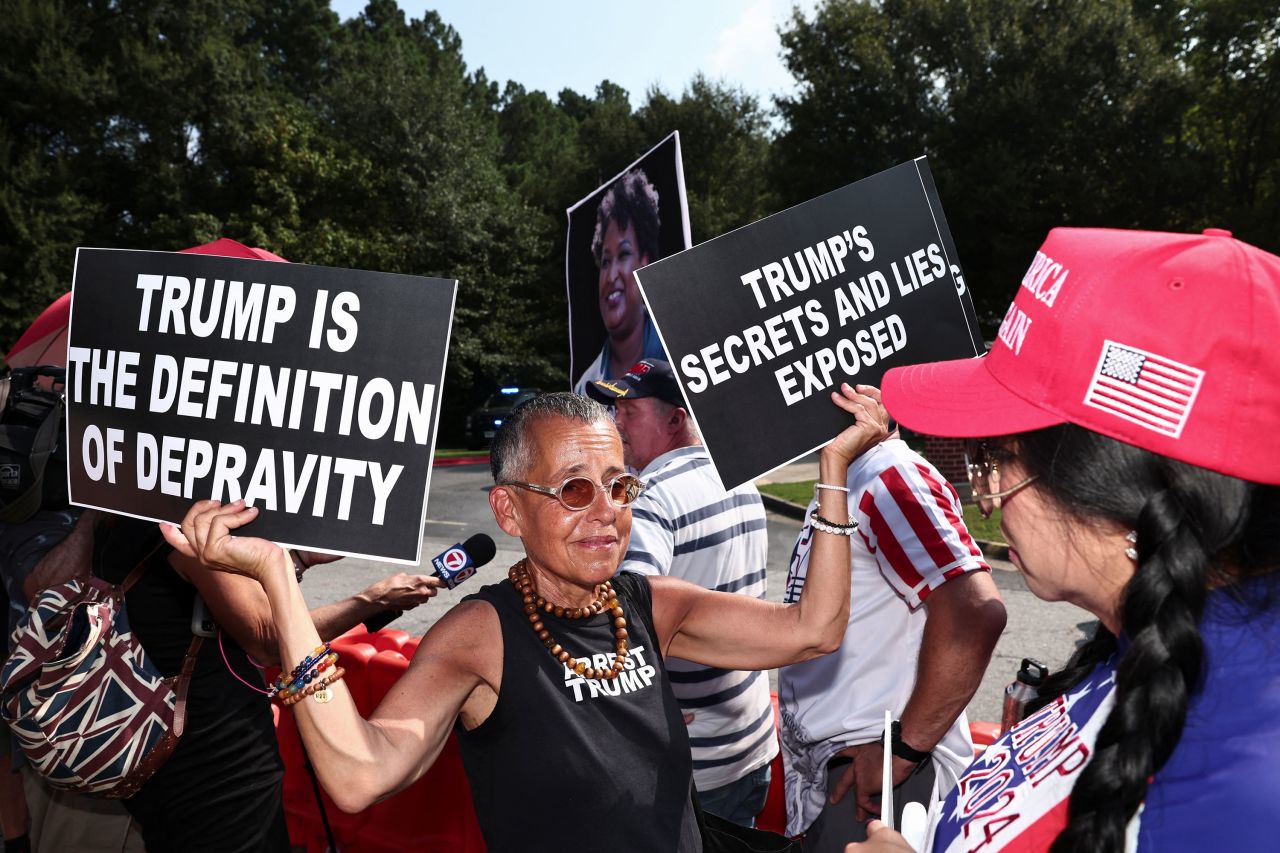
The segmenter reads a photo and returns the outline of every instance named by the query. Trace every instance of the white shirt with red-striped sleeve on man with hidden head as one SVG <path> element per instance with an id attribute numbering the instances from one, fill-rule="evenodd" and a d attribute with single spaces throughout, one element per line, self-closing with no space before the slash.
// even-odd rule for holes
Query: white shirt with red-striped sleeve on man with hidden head
<path id="1" fill-rule="evenodd" d="M 879 736 L 884 711 L 900 716 L 915 688 L 929 593 L 966 571 L 987 570 L 964 525 L 960 497 L 923 457 L 892 439 L 849 467 L 852 537 L 849 628 L 838 651 L 778 670 L 786 765 L 787 833 L 809 827 L 826 799 L 826 763 L 846 745 Z M 815 505 L 810 503 L 810 512 Z M 786 601 L 800 598 L 813 532 L 791 555 Z M 957 776 L 973 754 L 964 715 L 934 751 Z"/>

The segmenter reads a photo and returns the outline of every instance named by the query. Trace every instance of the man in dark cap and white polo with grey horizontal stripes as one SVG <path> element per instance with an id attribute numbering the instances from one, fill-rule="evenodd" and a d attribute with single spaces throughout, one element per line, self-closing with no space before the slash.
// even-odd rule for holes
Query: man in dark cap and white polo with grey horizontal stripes
<path id="1" fill-rule="evenodd" d="M 620 571 L 684 578 L 708 589 L 764 598 L 768 535 L 760 493 L 726 492 L 685 409 L 671 365 L 643 359 L 588 393 L 614 406 L 628 467 L 645 491 L 632 505 L 631 546 Z M 668 660 L 689 724 L 694 783 L 705 811 L 755 824 L 778 752 L 764 672 Z"/>

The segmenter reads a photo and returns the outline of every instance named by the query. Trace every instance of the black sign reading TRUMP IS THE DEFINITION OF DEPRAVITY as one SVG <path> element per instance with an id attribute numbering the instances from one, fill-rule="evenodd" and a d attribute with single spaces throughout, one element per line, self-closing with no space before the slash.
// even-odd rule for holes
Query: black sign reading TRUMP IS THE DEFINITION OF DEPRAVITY
<path id="1" fill-rule="evenodd" d="M 72 501 L 417 562 L 457 282 L 81 248 L 67 380 Z"/>

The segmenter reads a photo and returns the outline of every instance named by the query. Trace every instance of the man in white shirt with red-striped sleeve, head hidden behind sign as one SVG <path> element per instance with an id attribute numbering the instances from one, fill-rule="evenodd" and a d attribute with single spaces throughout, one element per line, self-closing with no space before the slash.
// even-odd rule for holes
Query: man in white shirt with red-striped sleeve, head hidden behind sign
<path id="1" fill-rule="evenodd" d="M 908 802 L 946 795 L 973 758 L 964 710 L 1005 628 L 960 497 L 936 467 L 891 433 L 849 466 L 845 485 L 859 525 L 845 639 L 778 670 L 787 834 L 805 834 L 805 853 L 867 838 L 864 821 L 879 812 L 884 711 L 895 720 L 895 818 Z M 804 588 L 812 534 L 806 523 L 791 553 L 787 602 Z"/>

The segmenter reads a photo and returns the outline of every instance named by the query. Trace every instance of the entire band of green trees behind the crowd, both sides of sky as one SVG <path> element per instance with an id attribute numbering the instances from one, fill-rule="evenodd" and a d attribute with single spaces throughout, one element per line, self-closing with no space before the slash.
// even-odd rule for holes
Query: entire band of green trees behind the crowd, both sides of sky
<path id="1" fill-rule="evenodd" d="M 563 387 L 564 210 L 673 129 L 699 242 L 928 154 L 992 329 L 1056 224 L 1280 248 L 1274 0 L 827 0 L 783 28 L 799 88 L 772 114 L 703 77 L 635 109 L 609 81 L 499 88 L 393 0 L 0 14 L 0 342 L 77 246 L 458 278 L 445 435 L 499 383 Z"/>

